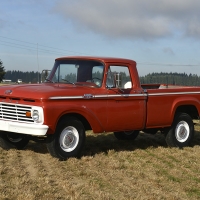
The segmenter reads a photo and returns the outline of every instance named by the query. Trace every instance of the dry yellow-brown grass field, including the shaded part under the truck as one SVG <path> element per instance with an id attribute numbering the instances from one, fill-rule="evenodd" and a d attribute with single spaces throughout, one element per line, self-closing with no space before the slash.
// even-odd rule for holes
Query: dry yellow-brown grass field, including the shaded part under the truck
<path id="1" fill-rule="evenodd" d="M 59 161 L 45 144 L 0 149 L 0 199 L 200 199 L 200 126 L 193 147 L 168 148 L 164 136 L 119 141 L 87 133 L 81 159 Z"/>

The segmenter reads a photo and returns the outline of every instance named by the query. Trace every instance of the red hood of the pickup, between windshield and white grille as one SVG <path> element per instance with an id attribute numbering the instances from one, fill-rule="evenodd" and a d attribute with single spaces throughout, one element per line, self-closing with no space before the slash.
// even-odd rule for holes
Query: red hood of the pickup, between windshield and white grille
<path id="1" fill-rule="evenodd" d="M 92 94 L 94 88 L 70 84 L 21 84 L 0 87 L 0 97 L 42 100 L 55 96 L 83 96 Z"/>

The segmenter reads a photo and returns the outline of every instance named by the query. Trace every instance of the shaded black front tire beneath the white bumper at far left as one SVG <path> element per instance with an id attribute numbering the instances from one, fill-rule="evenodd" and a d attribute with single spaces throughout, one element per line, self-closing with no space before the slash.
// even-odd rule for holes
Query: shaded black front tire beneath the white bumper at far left
<path id="1" fill-rule="evenodd" d="M 3 149 L 24 149 L 28 143 L 29 137 L 27 135 L 11 132 L 0 133 L 0 147 Z"/>

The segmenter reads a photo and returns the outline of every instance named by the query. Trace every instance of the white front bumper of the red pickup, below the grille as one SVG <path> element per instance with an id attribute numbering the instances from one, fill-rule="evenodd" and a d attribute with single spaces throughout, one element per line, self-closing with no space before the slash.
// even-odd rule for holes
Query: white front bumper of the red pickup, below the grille
<path id="1" fill-rule="evenodd" d="M 47 125 L 42 124 L 25 124 L 0 120 L 0 131 L 21 133 L 27 135 L 44 136 L 48 131 Z"/>

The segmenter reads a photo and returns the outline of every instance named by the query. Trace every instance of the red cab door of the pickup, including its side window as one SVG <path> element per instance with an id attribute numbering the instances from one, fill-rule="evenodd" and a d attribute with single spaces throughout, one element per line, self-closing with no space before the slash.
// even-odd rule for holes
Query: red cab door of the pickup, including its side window
<path id="1" fill-rule="evenodd" d="M 116 76 L 121 76 L 121 80 L 115 82 Z M 131 80 L 129 67 L 110 65 L 106 87 L 106 131 L 141 130 L 146 120 L 146 95 Z"/>

